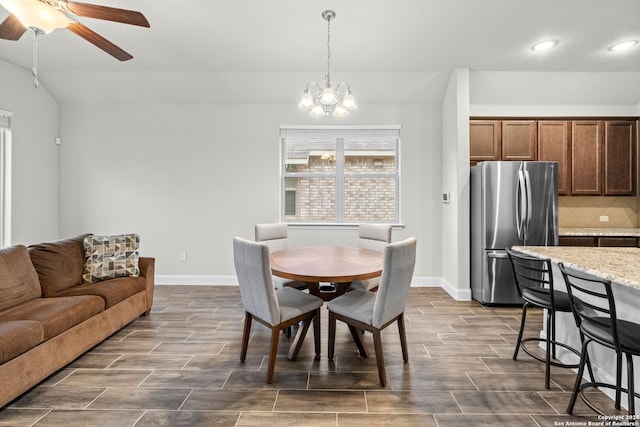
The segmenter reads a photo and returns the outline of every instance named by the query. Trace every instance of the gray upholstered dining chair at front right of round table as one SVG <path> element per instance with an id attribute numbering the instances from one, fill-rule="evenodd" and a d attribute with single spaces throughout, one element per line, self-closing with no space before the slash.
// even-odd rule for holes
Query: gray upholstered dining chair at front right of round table
<path id="1" fill-rule="evenodd" d="M 409 295 L 413 268 L 416 262 L 416 239 L 410 237 L 390 243 L 384 249 L 384 264 L 378 292 L 356 289 L 327 303 L 329 310 L 329 360 L 333 360 L 336 342 L 336 321 L 345 322 L 360 355 L 367 353 L 362 345 L 358 329 L 371 332 L 378 365 L 380 384 L 386 385 L 381 332 L 398 323 L 402 358 L 409 361 L 407 338 L 404 329 L 404 310 Z"/>

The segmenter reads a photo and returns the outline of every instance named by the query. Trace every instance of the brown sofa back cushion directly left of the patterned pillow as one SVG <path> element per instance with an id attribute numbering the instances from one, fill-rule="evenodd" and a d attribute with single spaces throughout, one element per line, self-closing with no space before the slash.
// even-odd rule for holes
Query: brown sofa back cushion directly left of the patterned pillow
<path id="1" fill-rule="evenodd" d="M 89 234 L 29 246 L 44 296 L 80 284 L 84 268 L 82 243 L 87 236 Z"/>

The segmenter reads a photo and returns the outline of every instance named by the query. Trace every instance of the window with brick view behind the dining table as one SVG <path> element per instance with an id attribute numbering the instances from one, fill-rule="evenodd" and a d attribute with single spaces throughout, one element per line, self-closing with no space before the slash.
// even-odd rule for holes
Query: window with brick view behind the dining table
<path id="1" fill-rule="evenodd" d="M 281 126 L 289 223 L 400 222 L 400 126 Z"/>

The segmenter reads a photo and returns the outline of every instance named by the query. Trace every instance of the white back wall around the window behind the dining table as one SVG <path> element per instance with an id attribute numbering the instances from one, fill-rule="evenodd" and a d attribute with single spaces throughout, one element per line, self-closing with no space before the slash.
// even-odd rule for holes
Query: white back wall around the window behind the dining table
<path id="1" fill-rule="evenodd" d="M 278 220 L 279 125 L 318 123 L 402 125 L 406 228 L 393 238 L 416 236 L 416 277 L 439 277 L 439 107 L 362 105 L 347 120 L 327 121 L 293 103 L 63 104 L 60 234 L 136 232 L 159 275 L 228 281 L 232 237 L 253 238 L 255 223 Z M 290 230 L 295 245 L 356 237 L 353 229 Z"/>

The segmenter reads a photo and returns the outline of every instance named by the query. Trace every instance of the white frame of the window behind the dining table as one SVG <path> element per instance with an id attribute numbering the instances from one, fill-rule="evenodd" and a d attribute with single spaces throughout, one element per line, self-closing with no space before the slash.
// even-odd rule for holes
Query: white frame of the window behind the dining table
<path id="1" fill-rule="evenodd" d="M 401 226 L 401 200 L 400 200 L 400 125 L 281 125 L 280 126 L 280 221 L 287 222 L 291 226 L 357 226 L 360 222 L 374 222 L 374 221 L 346 221 L 344 220 L 344 180 L 349 177 L 357 178 L 379 178 L 379 177 L 393 177 L 395 178 L 395 220 L 387 221 L 386 223 L 392 226 Z M 362 135 L 363 133 L 371 133 L 375 135 L 392 135 L 390 138 L 396 139 L 395 146 L 395 172 L 394 173 L 358 173 L 357 175 L 345 174 L 345 153 L 344 153 L 344 140 L 355 135 Z M 336 140 L 336 171 L 335 173 L 323 173 L 323 172 L 295 172 L 288 173 L 285 168 L 285 141 L 287 136 L 304 136 L 305 134 L 312 136 L 327 136 L 335 137 Z M 286 192 L 286 178 L 296 177 L 330 177 L 336 179 L 336 218 L 335 221 L 309 221 L 309 220 L 287 220 L 285 216 L 285 192 Z M 381 222 L 381 221 L 375 221 Z"/>

